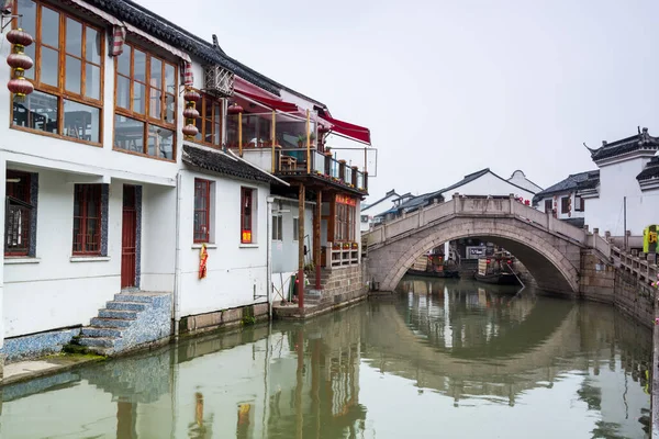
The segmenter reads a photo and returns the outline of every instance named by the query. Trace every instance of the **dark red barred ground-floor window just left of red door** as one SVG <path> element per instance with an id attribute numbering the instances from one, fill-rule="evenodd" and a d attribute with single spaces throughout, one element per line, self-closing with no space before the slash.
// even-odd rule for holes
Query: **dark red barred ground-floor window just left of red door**
<path id="1" fill-rule="evenodd" d="M 74 255 L 101 255 L 101 184 L 76 184 Z"/>

